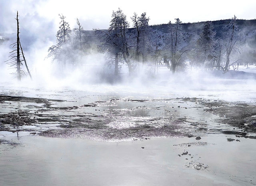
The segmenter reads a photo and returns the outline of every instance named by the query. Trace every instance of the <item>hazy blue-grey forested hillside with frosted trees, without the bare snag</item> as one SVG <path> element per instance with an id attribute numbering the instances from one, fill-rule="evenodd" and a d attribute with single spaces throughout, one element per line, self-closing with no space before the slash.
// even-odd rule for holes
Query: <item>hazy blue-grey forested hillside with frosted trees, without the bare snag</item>
<path id="1" fill-rule="evenodd" d="M 237 71 L 239 65 L 256 64 L 255 19 L 234 16 L 228 20 L 183 23 L 176 18 L 175 22 L 149 25 L 150 17 L 145 12 L 134 13 L 130 23 L 118 9 L 112 13 L 109 28 L 84 30 L 78 19 L 76 28 L 70 28 L 66 17 L 59 16 L 56 44 L 49 47 L 47 57 L 58 62 L 60 70 L 84 65 L 84 56 L 92 53 L 104 54 L 105 65 L 113 69 L 115 76 L 123 65 L 131 75 L 145 65 L 156 74 L 159 65 L 176 73 L 192 68 Z M 0 43 L 11 38 L 0 36 Z M 24 48 L 28 47 L 25 43 Z"/>

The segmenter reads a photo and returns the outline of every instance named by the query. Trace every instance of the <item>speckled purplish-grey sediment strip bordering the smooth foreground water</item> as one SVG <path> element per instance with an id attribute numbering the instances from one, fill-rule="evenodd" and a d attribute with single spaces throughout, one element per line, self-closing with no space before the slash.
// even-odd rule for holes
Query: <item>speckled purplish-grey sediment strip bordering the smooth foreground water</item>
<path id="1" fill-rule="evenodd" d="M 95 125 L 81 127 L 67 127 L 63 130 L 47 130 L 39 135 L 46 137 L 61 138 L 83 138 L 93 140 L 125 140 L 125 139 L 146 139 L 145 137 L 184 137 L 187 131 L 179 131 L 179 125 L 168 125 L 166 127 L 152 127 L 142 125 L 138 127 L 129 127 L 126 129 L 109 128 L 104 125 Z"/>

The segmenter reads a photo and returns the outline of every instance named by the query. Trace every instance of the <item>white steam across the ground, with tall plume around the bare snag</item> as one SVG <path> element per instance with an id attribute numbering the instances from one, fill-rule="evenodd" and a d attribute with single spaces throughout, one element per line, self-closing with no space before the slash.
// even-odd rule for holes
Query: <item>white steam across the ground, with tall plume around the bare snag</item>
<path id="1" fill-rule="evenodd" d="M 32 6 L 28 8 L 33 9 Z M 2 19 L 6 15 L 12 18 L 14 14 L 9 8 L 1 13 Z M 58 18 L 57 13 L 55 16 Z M 1 20 L 0 23 L 0 39 L 8 38 L 0 45 L 0 61 L 8 59 L 9 45 L 16 38 L 15 34 L 12 34 L 16 30 L 16 25 L 11 20 L 8 18 L 3 22 Z M 75 23 L 76 20 L 73 21 Z M 0 62 L 0 86 L 12 84 L 10 86 L 13 87 L 59 91 L 70 89 L 128 96 L 202 97 L 228 101 L 255 101 L 252 97 L 256 92 L 255 80 L 220 79 L 204 69 L 190 71 L 189 66 L 186 72 L 172 75 L 167 67 L 158 66 L 158 73 L 154 74 L 152 66 L 143 65 L 129 77 L 127 66 L 122 64 L 120 79 L 116 80 L 113 77 L 113 67 L 106 65 L 106 56 L 94 49 L 88 49 L 86 54 L 78 57 L 79 60 L 74 66 L 69 64 L 66 69 L 60 69 L 58 62 L 52 62 L 51 58 L 46 58 L 48 48 L 55 44 L 58 21 L 51 19 L 50 16 L 43 17 L 35 10 L 30 14 L 20 16 L 20 23 L 21 43 L 33 81 L 30 81 L 27 76 L 23 77 L 21 82 L 17 82 L 11 74 L 14 70 L 8 69 L 6 63 Z M 81 23 L 84 28 L 87 28 L 85 22 Z M 73 24 L 71 25 L 74 28 Z M 96 27 L 98 26 L 94 26 Z M 103 28 L 106 27 L 104 25 Z M 254 49 L 246 43 L 244 50 L 250 53 Z"/>

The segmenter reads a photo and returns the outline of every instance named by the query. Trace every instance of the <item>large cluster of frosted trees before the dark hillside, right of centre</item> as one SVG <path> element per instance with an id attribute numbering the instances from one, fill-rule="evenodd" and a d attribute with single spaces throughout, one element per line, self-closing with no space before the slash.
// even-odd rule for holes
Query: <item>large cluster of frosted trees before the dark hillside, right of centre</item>
<path id="1" fill-rule="evenodd" d="M 238 63 L 242 49 L 240 32 L 236 16 L 224 26 L 223 37 L 216 37 L 212 22 L 205 22 L 198 36 L 185 32 L 179 18 L 168 23 L 168 32 L 154 30 L 149 26 L 146 13 L 132 18 L 132 32 L 122 10 L 113 11 L 110 27 L 107 31 L 96 29 L 100 38 L 99 50 L 114 58 L 115 75 L 118 75 L 118 63 L 126 63 L 129 73 L 140 69 L 141 64 L 154 66 L 166 65 L 172 73 L 184 69 L 188 62 L 190 66 L 205 67 L 210 70 L 230 70 Z M 194 45 L 189 45 L 194 40 Z"/>

